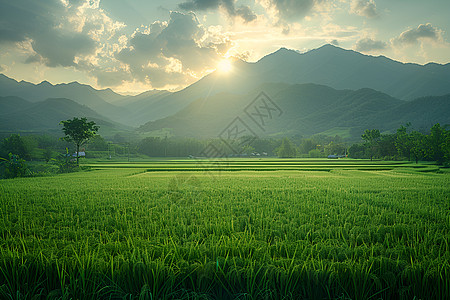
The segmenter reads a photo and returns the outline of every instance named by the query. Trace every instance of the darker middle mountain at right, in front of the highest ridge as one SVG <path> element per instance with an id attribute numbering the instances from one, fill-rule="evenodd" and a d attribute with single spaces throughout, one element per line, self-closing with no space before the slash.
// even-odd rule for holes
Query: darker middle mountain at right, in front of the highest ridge
<path id="1" fill-rule="evenodd" d="M 282 114 L 268 120 L 263 129 L 245 114 L 246 107 L 264 90 Z M 394 131 L 412 122 L 418 127 L 450 123 L 450 95 L 404 101 L 373 89 L 336 90 L 316 84 L 265 84 L 246 95 L 219 93 L 139 128 L 162 129 L 177 136 L 218 137 L 234 118 L 240 117 L 260 136 L 339 134 L 359 139 L 368 128 Z M 261 113 L 265 113 L 260 110 Z"/>

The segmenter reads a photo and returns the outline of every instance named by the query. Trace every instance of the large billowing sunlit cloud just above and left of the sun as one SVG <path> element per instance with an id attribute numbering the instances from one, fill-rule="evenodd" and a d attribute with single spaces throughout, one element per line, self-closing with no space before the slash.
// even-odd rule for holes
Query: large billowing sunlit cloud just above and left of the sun
<path id="1" fill-rule="evenodd" d="M 133 79 L 164 88 L 205 75 L 230 47 L 226 36 L 207 30 L 194 13 L 171 12 L 168 22 L 136 30 L 115 58 Z"/>

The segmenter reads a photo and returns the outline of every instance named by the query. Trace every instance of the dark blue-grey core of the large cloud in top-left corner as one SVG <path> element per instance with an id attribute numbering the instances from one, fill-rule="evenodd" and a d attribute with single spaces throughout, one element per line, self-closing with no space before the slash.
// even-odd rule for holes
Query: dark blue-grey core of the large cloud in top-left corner
<path id="1" fill-rule="evenodd" d="M 70 1 L 72 8 L 84 1 Z M 36 55 L 28 62 L 72 66 L 77 55 L 95 51 L 95 41 L 83 32 L 63 28 L 67 7 L 59 0 L 0 0 L 0 43 L 30 42 Z"/>

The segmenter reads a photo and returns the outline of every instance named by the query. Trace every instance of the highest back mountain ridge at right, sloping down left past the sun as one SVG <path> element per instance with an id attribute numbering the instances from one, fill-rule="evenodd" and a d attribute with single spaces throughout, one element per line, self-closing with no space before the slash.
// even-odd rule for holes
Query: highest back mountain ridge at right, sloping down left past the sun
<path id="1" fill-rule="evenodd" d="M 179 92 L 151 102 L 146 116 L 155 121 L 195 100 L 223 92 L 245 95 L 266 83 L 314 83 L 340 90 L 370 88 L 411 101 L 449 94 L 450 64 L 405 64 L 332 45 L 305 53 L 281 48 L 256 63 L 236 61 L 230 73 L 213 72 Z"/>

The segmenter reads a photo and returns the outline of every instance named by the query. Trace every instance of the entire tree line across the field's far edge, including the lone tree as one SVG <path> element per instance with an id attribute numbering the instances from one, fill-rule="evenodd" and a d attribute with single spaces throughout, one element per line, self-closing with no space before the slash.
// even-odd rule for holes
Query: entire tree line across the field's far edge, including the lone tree
<path id="1" fill-rule="evenodd" d="M 98 126 L 94 122 L 83 121 L 74 118 L 61 122 L 65 137 L 19 134 L 4 137 L 0 140 L 0 173 L 2 166 L 4 169 L 5 165 L 10 164 L 10 169 L 22 176 L 25 174 L 24 162 L 31 160 L 47 163 L 56 161 L 59 171 L 64 171 L 74 160 L 74 153 L 78 160 L 80 151 L 85 152 L 86 157 L 109 159 L 138 156 L 204 157 L 208 156 L 205 149 L 210 145 L 217 150 L 217 156 L 224 157 L 321 158 L 331 155 L 355 159 L 410 160 L 416 163 L 435 161 L 441 165 L 450 163 L 450 130 L 439 123 L 428 132 L 414 130 L 410 123 L 402 125 L 395 133 L 366 129 L 361 135 L 361 142 L 348 146 L 347 141 L 339 135 L 330 137 L 321 134 L 290 138 L 242 137 L 225 143 L 217 138 L 167 136 L 127 141 L 126 136 L 120 134 L 108 140 L 96 134 Z"/>

